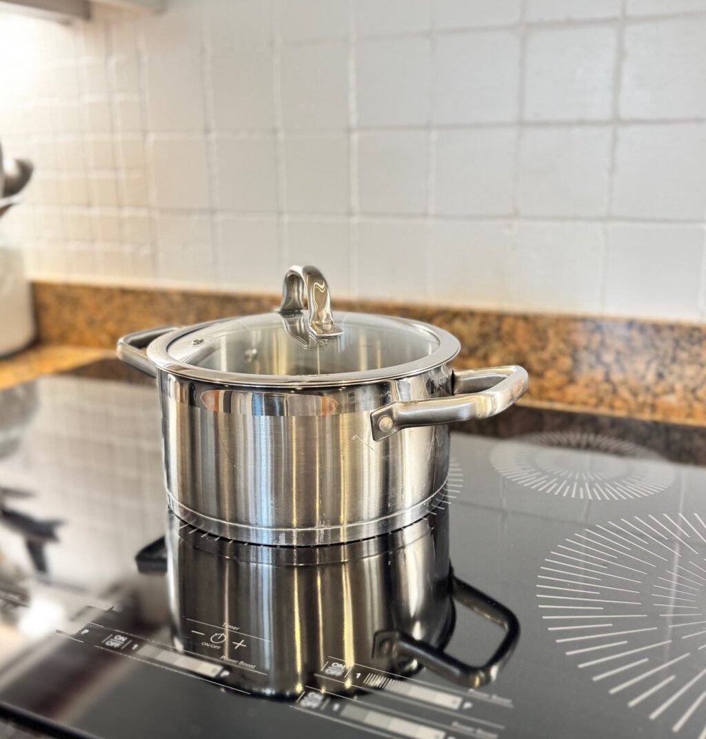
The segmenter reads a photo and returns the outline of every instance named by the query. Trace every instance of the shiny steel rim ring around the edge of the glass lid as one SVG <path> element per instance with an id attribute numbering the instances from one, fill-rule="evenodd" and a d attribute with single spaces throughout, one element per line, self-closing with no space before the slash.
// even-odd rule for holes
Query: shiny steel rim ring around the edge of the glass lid
<path id="1" fill-rule="evenodd" d="M 363 316 L 374 316 L 376 314 L 360 314 Z M 196 333 L 205 327 L 222 323 L 232 319 L 216 319 L 205 321 L 178 328 L 155 338 L 147 347 L 148 359 L 157 369 L 177 375 L 190 380 L 197 380 L 216 385 L 257 387 L 257 388 L 281 388 L 289 389 L 318 388 L 318 387 L 341 387 L 348 385 L 369 385 L 387 380 L 399 380 L 400 378 L 421 375 L 436 367 L 448 364 L 461 351 L 461 343 L 443 329 L 416 321 L 405 319 L 400 316 L 384 316 L 385 319 L 400 321 L 406 327 L 411 327 L 419 332 L 431 334 L 439 342 L 439 345 L 431 354 L 425 355 L 411 362 L 397 364 L 391 367 L 380 367 L 379 369 L 355 370 L 352 372 L 332 372 L 326 375 L 257 375 L 246 372 L 223 372 L 218 369 L 196 367 L 192 364 L 178 361 L 169 353 L 172 342 L 189 333 Z"/>

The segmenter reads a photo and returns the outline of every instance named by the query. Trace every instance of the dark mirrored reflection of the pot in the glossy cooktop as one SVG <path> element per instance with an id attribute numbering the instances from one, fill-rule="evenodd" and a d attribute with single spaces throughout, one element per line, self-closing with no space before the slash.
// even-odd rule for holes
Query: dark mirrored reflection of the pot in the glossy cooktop
<path id="1" fill-rule="evenodd" d="M 228 684 L 256 695 L 296 698 L 324 676 L 327 692 L 356 692 L 354 666 L 400 676 L 427 667 L 480 687 L 496 678 L 519 636 L 510 610 L 453 575 L 445 512 L 318 548 L 227 541 L 170 514 L 165 541 L 137 562 L 143 572 L 167 572 L 177 647 L 227 664 Z M 505 632 L 480 667 L 445 650 L 456 605 Z"/>

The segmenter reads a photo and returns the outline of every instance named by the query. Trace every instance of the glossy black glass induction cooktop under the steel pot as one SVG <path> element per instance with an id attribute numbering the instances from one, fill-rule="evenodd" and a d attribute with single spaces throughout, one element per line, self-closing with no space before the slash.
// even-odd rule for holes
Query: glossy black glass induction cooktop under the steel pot
<path id="1" fill-rule="evenodd" d="M 452 438 L 426 519 L 267 548 L 168 514 L 136 372 L 0 392 L 0 737 L 706 738 L 706 432 Z"/>

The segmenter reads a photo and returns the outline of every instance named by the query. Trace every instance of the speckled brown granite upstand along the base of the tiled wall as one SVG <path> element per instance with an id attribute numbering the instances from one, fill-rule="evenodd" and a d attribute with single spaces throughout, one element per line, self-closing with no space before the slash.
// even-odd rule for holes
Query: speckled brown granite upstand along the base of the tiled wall
<path id="1" fill-rule="evenodd" d="M 113 347 L 128 331 L 261 313 L 278 296 L 35 283 L 43 344 Z M 456 367 L 522 364 L 532 403 L 706 423 L 706 326 L 572 316 L 523 316 L 424 305 L 336 300 L 427 321 L 462 344 Z"/>

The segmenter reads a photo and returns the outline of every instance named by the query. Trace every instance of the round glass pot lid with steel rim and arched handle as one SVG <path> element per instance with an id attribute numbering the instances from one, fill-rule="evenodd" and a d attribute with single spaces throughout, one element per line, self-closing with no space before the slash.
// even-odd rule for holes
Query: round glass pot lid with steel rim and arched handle
<path id="1" fill-rule="evenodd" d="M 419 374 L 459 349 L 449 333 L 419 321 L 332 313 L 321 272 L 292 267 L 278 311 L 168 333 L 148 356 L 167 372 L 219 384 L 331 386 Z"/>

